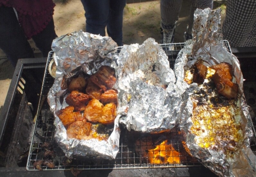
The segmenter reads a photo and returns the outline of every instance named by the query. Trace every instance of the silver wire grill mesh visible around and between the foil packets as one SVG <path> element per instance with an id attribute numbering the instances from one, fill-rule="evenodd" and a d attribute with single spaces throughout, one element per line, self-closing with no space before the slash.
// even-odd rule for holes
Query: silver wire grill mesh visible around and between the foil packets
<path id="1" fill-rule="evenodd" d="M 174 67 L 178 52 L 183 48 L 184 44 L 161 44 L 161 47 L 168 55 L 171 68 Z M 231 52 L 228 42 L 224 41 L 224 44 L 228 51 Z M 120 50 L 121 48 L 118 49 L 118 52 Z M 37 170 L 33 166 L 35 161 L 46 161 L 49 159 L 53 161 L 55 167 L 51 169 L 46 165 L 41 165 L 43 170 L 66 170 L 71 168 L 81 170 L 140 169 L 201 166 L 200 162 L 187 154 L 183 148 L 182 137 L 177 127 L 168 132 L 158 134 L 129 132 L 125 128 L 121 128 L 119 152 L 114 160 L 75 158 L 67 165 L 67 159 L 63 151 L 58 148 L 58 145 L 54 141 L 54 117 L 47 103 L 47 95 L 54 82 L 48 71 L 52 54 L 53 52 L 49 53 L 46 63 L 35 126 L 32 132 L 32 141 L 26 166 L 27 170 Z M 256 149 L 255 139 L 254 131 L 254 137 L 251 141 L 251 149 L 253 151 Z M 168 147 L 163 148 L 164 143 Z"/>

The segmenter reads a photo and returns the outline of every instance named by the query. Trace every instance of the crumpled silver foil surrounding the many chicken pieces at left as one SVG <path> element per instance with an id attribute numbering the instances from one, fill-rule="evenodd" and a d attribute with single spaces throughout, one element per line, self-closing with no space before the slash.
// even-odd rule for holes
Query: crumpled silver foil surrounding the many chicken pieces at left
<path id="1" fill-rule="evenodd" d="M 79 157 L 114 159 L 119 150 L 120 129 L 118 117 L 114 121 L 114 129 L 108 140 L 99 141 L 97 139 L 78 140 L 68 138 L 66 128 L 57 116 L 60 109 L 68 106 L 65 101 L 68 95 L 67 80 L 81 71 L 91 75 L 102 65 L 110 66 L 115 60 L 116 47 L 117 44 L 112 38 L 85 33 L 82 30 L 53 40 L 53 58 L 57 70 L 54 84 L 48 93 L 48 103 L 55 117 L 55 139 L 69 158 L 76 155 Z"/>

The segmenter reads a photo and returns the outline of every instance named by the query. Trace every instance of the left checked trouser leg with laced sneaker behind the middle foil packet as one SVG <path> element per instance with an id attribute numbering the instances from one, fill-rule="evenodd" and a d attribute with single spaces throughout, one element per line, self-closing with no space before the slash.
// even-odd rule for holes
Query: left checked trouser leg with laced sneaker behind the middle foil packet
<path id="1" fill-rule="evenodd" d="M 160 0 L 161 28 L 163 30 L 163 40 L 160 43 L 168 44 L 173 42 L 181 4 L 182 0 Z"/>

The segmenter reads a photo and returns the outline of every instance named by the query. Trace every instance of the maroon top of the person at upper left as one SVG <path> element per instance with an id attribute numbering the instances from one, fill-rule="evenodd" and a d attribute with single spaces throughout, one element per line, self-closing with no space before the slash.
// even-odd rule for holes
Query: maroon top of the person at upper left
<path id="1" fill-rule="evenodd" d="M 0 7 L 2 5 L 17 11 L 19 23 L 28 39 L 46 28 L 55 6 L 52 0 L 0 0 Z"/>

